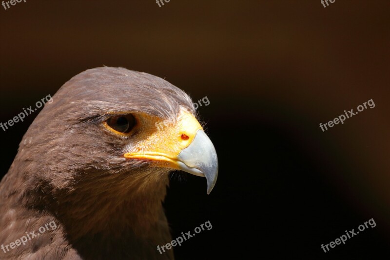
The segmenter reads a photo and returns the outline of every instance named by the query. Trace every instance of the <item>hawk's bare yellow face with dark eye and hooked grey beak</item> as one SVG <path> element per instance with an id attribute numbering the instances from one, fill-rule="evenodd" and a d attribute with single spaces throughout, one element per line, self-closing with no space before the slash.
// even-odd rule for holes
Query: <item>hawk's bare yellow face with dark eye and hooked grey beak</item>
<path id="1" fill-rule="evenodd" d="M 126 160 L 206 177 L 208 193 L 213 189 L 218 173 L 215 148 L 186 108 L 181 107 L 176 118 L 165 119 L 131 111 L 109 112 L 100 124 L 104 134 L 117 138 Z"/>

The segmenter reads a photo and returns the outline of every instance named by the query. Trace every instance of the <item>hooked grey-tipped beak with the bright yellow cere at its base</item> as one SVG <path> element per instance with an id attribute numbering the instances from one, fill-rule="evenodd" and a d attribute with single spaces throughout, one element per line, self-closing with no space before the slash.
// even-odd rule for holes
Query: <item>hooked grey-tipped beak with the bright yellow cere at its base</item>
<path id="1" fill-rule="evenodd" d="M 182 111 L 175 124 L 156 122 L 155 125 L 157 130 L 140 144 L 139 150 L 125 153 L 124 157 L 151 160 L 156 167 L 206 177 L 207 194 L 210 194 L 218 176 L 218 158 L 199 122 L 192 114 Z"/>

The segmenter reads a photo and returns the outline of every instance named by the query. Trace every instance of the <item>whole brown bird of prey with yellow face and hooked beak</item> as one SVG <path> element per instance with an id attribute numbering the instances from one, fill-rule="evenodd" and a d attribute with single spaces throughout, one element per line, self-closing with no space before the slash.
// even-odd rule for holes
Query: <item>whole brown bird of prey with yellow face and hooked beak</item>
<path id="1" fill-rule="evenodd" d="M 156 246 L 172 240 L 162 201 L 175 169 L 206 177 L 208 193 L 218 173 L 186 93 L 124 68 L 76 75 L 0 182 L 0 259 L 174 259 Z"/>

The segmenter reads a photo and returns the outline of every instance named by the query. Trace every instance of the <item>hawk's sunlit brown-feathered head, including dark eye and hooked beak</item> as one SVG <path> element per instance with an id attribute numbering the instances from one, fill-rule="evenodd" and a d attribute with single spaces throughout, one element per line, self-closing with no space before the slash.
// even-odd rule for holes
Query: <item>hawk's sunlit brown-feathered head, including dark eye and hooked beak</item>
<path id="1" fill-rule="evenodd" d="M 67 170 L 56 174 L 68 185 L 82 178 L 109 188 L 107 183 L 114 182 L 106 180 L 148 182 L 147 176 L 171 170 L 206 177 L 208 193 L 215 185 L 215 148 L 195 118 L 191 99 L 149 74 L 121 68 L 80 73 L 61 87 L 30 128 L 24 144 L 39 131 L 44 140 L 35 147 L 40 154 L 51 153 L 53 168 Z"/>

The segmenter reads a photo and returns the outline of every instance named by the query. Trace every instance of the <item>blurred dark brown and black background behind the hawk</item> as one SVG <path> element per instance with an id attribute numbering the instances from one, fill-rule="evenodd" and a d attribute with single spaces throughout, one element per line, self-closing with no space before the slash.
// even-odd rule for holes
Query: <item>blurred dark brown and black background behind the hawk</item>
<path id="1" fill-rule="evenodd" d="M 388 0 L 0 6 L 0 122 L 89 68 L 154 74 L 208 97 L 198 111 L 219 159 L 210 195 L 202 178 L 172 178 L 173 237 L 213 225 L 176 259 L 379 259 L 390 251 L 389 13 Z M 370 99 L 373 109 L 319 128 Z M 0 177 L 37 115 L 0 129 Z"/>

